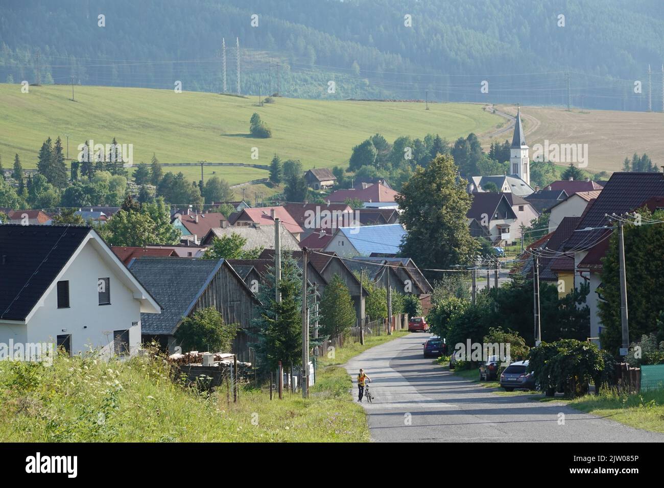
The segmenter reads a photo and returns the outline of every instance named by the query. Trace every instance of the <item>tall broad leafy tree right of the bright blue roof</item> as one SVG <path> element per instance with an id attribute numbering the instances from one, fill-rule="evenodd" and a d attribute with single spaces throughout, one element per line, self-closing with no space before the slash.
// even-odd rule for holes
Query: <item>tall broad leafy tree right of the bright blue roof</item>
<path id="1" fill-rule="evenodd" d="M 423 268 L 468 264 L 477 243 L 470 235 L 466 214 L 471 197 L 467 181 L 457 179 L 454 160 L 436 157 L 426 168 L 418 167 L 397 195 L 399 220 L 408 228 L 402 256 L 415 256 Z"/>

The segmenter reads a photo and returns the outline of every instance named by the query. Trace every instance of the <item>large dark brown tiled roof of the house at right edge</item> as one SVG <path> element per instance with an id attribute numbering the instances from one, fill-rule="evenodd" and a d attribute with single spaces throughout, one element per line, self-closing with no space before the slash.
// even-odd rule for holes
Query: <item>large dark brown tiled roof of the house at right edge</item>
<path id="1" fill-rule="evenodd" d="M 638 208 L 651 197 L 664 196 L 662 173 L 613 173 L 600 195 L 582 216 L 578 229 L 607 226 L 606 214 L 622 214 Z M 587 248 L 588 243 L 598 242 L 603 229 L 574 232 L 565 249 Z"/>

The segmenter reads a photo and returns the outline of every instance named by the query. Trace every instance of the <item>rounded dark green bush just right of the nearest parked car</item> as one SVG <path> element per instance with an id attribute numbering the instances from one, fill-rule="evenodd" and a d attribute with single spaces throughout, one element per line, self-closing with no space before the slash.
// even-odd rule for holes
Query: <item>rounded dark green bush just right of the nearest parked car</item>
<path id="1" fill-rule="evenodd" d="M 588 383 L 600 385 L 612 380 L 614 364 L 608 353 L 592 343 L 563 339 L 542 343 L 530 350 L 530 365 L 542 391 L 562 390 L 565 396 L 582 396 Z"/>

